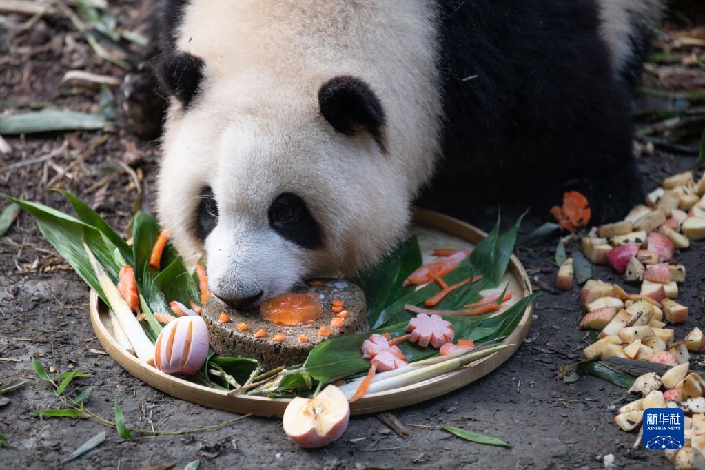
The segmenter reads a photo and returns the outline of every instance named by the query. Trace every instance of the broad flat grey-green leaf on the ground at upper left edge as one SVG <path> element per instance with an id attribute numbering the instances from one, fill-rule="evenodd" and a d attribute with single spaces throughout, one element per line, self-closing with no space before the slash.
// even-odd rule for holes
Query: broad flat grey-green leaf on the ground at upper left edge
<path id="1" fill-rule="evenodd" d="M 44 109 L 0 117 L 0 134 L 30 134 L 54 130 L 102 129 L 108 120 L 98 114 Z"/>

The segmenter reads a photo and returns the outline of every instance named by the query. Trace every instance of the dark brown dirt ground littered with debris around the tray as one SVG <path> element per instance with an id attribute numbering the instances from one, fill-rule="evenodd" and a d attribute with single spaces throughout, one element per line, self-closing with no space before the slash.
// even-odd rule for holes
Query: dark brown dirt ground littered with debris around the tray
<path id="1" fill-rule="evenodd" d="M 139 27 L 140 13 L 133 2 L 114 3 L 117 6 L 111 6 L 111 11 L 118 24 Z M 680 29 L 705 25 L 693 19 L 702 16 L 693 16 L 691 10 L 683 8 L 670 17 Z M 99 88 L 86 86 L 85 82 L 62 82 L 63 74 L 80 69 L 120 77 L 123 71 L 97 58 L 82 34 L 63 16 L 41 18 L 31 27 L 23 27 L 28 18 L 0 16 L 0 112 L 28 111 L 47 104 L 98 111 Z M 671 39 L 662 37 L 659 41 Z M 702 49 L 696 46 L 675 52 L 684 56 L 699 54 L 702 61 Z M 701 80 L 697 86 L 705 85 L 704 68 L 682 63 L 685 60 L 679 56 L 673 63 L 649 64 L 653 70 L 646 75 L 646 85 L 682 91 L 684 75 L 689 80 Z M 644 104 L 649 100 L 642 98 L 640 103 L 649 107 Z M 668 132 L 658 138 L 663 135 L 668 136 Z M 155 142 L 140 142 L 129 130 L 116 126 L 99 131 L 5 138 L 12 151 L 0 155 L 2 192 L 24 194 L 26 199 L 69 211 L 63 197 L 47 189 L 64 187 L 92 204 L 121 230 L 126 228 L 135 204 L 150 209 L 159 156 Z M 643 139 L 639 142 L 642 147 L 646 143 Z M 676 154 L 693 155 L 692 150 L 682 146 L 697 148 L 697 142 L 686 139 L 678 142 L 680 147 L 658 142 L 661 149 L 665 145 L 678 151 L 674 154 L 657 149 L 640 154 L 639 166 L 649 187 L 655 187 L 666 175 L 692 168 L 695 162 L 694 156 Z M 49 153 L 51 158 L 43 161 L 7 167 Z M 137 201 L 138 187 L 142 197 Z M 560 199 L 560 194 L 556 197 Z M 4 206 L 0 203 L 0 208 Z M 522 209 L 504 207 L 505 225 L 513 222 Z M 496 208 L 477 209 L 466 216 L 487 230 L 494 222 Z M 529 233 L 544 221 L 545 214 L 530 212 L 522 233 Z M 31 357 L 36 357 L 47 368 L 52 366 L 59 372 L 80 368 L 92 374 L 74 381 L 71 387 L 83 390 L 94 385 L 86 407 L 109 419 L 117 398 L 129 426 L 187 429 L 234 417 L 164 395 L 137 381 L 107 356 L 87 318 L 86 285 L 42 239 L 32 218 L 21 214 L 0 239 L 0 380 L 17 374 L 30 383 L 6 395 L 7 404 L 0 402 L 0 433 L 11 444 L 0 447 L 1 466 L 166 469 L 171 465 L 183 468 L 188 462 L 199 460 L 202 469 L 593 469 L 603 468 L 603 456 L 614 454 L 620 468 L 668 467 L 661 452 L 632 450 L 636 436 L 613 425 L 614 407 L 627 396 L 624 389 L 592 376 L 565 384 L 558 375 L 558 367 L 580 358 L 587 343 L 584 331 L 577 328 L 578 290 L 558 293 L 551 288 L 556 268 L 550 259 L 557 241 L 558 237 L 553 236 L 517 251 L 534 288 L 546 290 L 550 296 L 537 299 L 527 340 L 503 366 L 449 395 L 394 410 L 393 414 L 409 431 L 405 438 L 393 433 L 376 416 L 358 416 L 351 419 L 348 431 L 336 443 L 321 450 L 302 450 L 286 440 L 278 419 L 250 417 L 200 433 L 123 440 L 114 429 L 93 421 L 42 419 L 33 414 L 32 410 L 59 407 L 46 383 L 37 380 L 32 372 Z M 705 325 L 701 295 L 705 281 L 704 245 L 694 243 L 678 255 L 678 261 L 685 264 L 689 273 L 679 302 L 690 307 L 691 314 L 685 326 L 675 328 L 677 336 Z M 575 247 L 569 245 L 569 252 Z M 596 268 L 595 277 L 620 281 L 606 268 Z M 699 355 L 693 364 L 703 359 Z M 502 438 L 513 448 L 467 443 L 434 428 L 412 426 L 415 424 L 460 426 Z M 100 431 L 106 431 L 105 443 L 73 462 L 61 463 Z"/>

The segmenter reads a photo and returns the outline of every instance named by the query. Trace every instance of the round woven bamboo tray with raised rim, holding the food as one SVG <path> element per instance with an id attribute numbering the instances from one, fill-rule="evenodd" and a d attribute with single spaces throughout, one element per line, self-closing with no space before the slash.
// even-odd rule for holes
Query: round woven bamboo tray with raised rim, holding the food
<path id="1" fill-rule="evenodd" d="M 414 222 L 415 225 L 411 232 L 419 236 L 419 245 L 421 246 L 421 252 L 424 253 L 424 262 L 429 260 L 427 254 L 436 247 L 472 248 L 486 237 L 486 233 L 482 232 L 482 230 L 436 212 L 417 210 L 415 211 Z M 503 283 L 506 281 L 509 281 L 508 292 L 512 292 L 515 298 L 526 297 L 532 292 L 527 273 L 516 256 L 512 256 L 509 261 Z M 223 409 L 239 414 L 252 413 L 257 416 L 281 416 L 289 402 L 288 399 L 272 399 L 247 395 L 228 397 L 226 392 L 169 376 L 152 366 L 147 366 L 147 364 L 143 364 L 118 345 L 109 327 L 110 321 L 107 307 L 93 290 L 90 292 L 89 310 L 93 330 L 106 352 L 118 364 L 123 366 L 123 369 L 140 379 L 140 381 L 157 388 L 157 390 L 182 400 L 201 404 L 204 407 Z M 501 313 L 501 311 L 498 311 L 498 313 Z M 532 311 L 533 305 L 529 305 L 517 328 L 504 340 L 503 343 L 513 344 L 513 346 L 479 359 L 458 371 L 446 373 L 442 376 L 395 390 L 366 395 L 351 404 L 351 412 L 353 414 L 376 413 L 423 402 L 461 388 L 494 371 L 514 354 L 517 347 L 526 338 L 531 326 Z"/>

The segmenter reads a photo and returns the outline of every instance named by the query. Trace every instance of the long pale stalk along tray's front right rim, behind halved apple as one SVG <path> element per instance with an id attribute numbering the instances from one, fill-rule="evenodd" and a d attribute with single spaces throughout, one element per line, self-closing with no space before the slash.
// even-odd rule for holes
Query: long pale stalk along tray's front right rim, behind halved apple
<path id="1" fill-rule="evenodd" d="M 494 352 L 503 350 L 505 347 L 512 345 L 497 345 L 488 347 L 486 350 L 475 352 L 460 352 L 456 354 L 448 354 L 448 356 L 431 357 L 424 361 L 419 361 L 409 366 L 400 367 L 393 371 L 382 372 L 375 374 L 367 388 L 366 395 L 376 392 L 384 392 L 394 388 L 405 387 L 412 383 L 419 383 L 429 378 L 441 376 L 444 373 L 452 372 L 466 366 L 477 359 L 489 356 Z M 377 379 L 377 380 L 375 380 Z M 363 378 L 358 378 L 353 382 L 346 383 L 340 387 L 346 397 L 350 398 L 355 395 L 360 382 Z"/>

